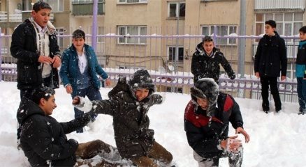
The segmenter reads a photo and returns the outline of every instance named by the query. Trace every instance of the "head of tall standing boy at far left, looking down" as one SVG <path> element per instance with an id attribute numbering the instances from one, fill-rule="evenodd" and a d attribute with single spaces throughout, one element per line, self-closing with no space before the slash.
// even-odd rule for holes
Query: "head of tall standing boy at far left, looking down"
<path id="1" fill-rule="evenodd" d="M 51 6 L 45 1 L 37 1 L 32 8 L 32 17 L 34 21 L 42 28 L 47 26 L 50 19 Z"/>

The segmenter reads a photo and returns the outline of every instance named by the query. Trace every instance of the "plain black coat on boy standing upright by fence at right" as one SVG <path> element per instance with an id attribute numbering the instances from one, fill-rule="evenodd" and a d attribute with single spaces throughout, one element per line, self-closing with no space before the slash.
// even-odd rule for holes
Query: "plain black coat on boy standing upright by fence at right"
<path id="1" fill-rule="evenodd" d="M 262 77 L 279 77 L 279 72 L 282 72 L 282 76 L 286 76 L 286 45 L 276 31 L 274 36 L 263 35 L 263 38 L 259 40 L 254 70 Z"/>

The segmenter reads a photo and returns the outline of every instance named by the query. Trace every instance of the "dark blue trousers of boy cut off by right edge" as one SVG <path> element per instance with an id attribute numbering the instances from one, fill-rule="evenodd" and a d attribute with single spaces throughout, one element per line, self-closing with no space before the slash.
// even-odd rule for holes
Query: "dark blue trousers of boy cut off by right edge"
<path id="1" fill-rule="evenodd" d="M 298 81 L 298 104 L 300 104 L 300 111 L 306 110 L 306 80 L 303 78 L 296 78 Z"/>

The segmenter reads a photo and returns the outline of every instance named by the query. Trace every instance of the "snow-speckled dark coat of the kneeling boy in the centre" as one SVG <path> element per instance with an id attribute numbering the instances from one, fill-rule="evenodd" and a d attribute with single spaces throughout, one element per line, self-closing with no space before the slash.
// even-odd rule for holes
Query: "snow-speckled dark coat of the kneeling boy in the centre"
<path id="1" fill-rule="evenodd" d="M 150 106 L 161 104 L 163 98 L 150 91 L 148 97 L 139 102 L 124 81 L 120 79 L 125 86 L 117 85 L 109 94 L 110 100 L 93 101 L 92 111 L 113 117 L 115 141 L 123 158 L 147 156 L 154 143 L 154 130 L 149 129 L 147 112 Z"/>

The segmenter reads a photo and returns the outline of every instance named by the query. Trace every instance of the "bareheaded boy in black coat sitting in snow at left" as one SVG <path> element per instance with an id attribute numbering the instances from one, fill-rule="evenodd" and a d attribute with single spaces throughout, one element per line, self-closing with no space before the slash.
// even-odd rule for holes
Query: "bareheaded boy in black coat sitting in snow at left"
<path id="1" fill-rule="evenodd" d="M 57 107 L 54 94 L 52 88 L 37 88 L 32 93 L 32 100 L 22 98 L 17 111 L 17 120 L 22 127 L 21 148 L 31 166 L 74 166 L 76 157 L 90 159 L 114 150 L 99 140 L 80 144 L 74 139 L 68 140 L 65 134 L 84 127 L 91 117 L 87 113 L 70 122 L 57 122 L 50 116 Z"/>

